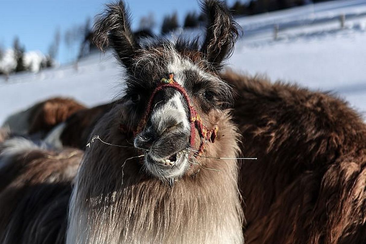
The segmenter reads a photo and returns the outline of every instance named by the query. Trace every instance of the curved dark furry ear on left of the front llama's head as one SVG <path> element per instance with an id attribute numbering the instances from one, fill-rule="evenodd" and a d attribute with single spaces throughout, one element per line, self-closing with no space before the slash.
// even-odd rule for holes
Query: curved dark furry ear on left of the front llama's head
<path id="1" fill-rule="evenodd" d="M 112 46 L 120 61 L 128 67 L 138 46 L 131 31 L 130 15 L 123 1 L 106 6 L 94 25 L 94 43 L 102 51 Z"/>

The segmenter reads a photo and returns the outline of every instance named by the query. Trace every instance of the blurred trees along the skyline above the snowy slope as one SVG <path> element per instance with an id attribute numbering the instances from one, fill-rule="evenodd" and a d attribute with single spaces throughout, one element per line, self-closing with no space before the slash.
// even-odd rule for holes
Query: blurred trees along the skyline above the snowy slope
<path id="1" fill-rule="evenodd" d="M 228 6 L 235 16 L 254 15 L 264 12 L 270 12 L 275 10 L 282 10 L 295 6 L 300 6 L 309 3 L 317 3 L 326 0 L 251 0 L 243 3 L 240 0 L 235 1 L 234 4 Z M 331 1 L 331 0 L 328 0 Z M 225 3 L 225 2 L 224 2 Z M 180 27 L 183 29 L 197 28 L 205 25 L 205 16 L 203 14 L 197 14 L 197 12 L 188 12 L 184 18 L 182 25 L 178 20 L 177 12 L 165 15 L 160 27 L 160 34 L 168 34 Z M 143 16 L 139 21 L 139 28 L 134 33 L 136 38 L 151 37 L 153 36 L 153 29 L 156 27 L 156 21 L 152 13 L 147 16 Z M 97 52 L 97 48 L 93 43 L 94 32 L 91 26 L 91 21 L 88 18 L 82 25 L 75 25 L 67 29 L 63 33 L 64 43 L 69 50 L 76 50 L 76 60 L 83 58 L 90 53 Z M 46 56 L 46 62 L 41 64 L 41 69 L 46 67 L 52 67 L 57 57 L 59 46 L 61 41 L 61 33 L 59 29 L 56 29 L 55 36 L 49 45 L 48 53 Z M 13 42 L 14 59 L 16 60 L 16 67 L 14 72 L 20 72 L 27 70 L 24 65 L 24 45 L 20 44 L 19 38 L 15 38 Z M 70 51 L 70 52 L 71 52 Z M 0 47 L 0 60 L 4 56 L 4 51 Z M 4 73 L 0 69 L 0 74 Z"/>

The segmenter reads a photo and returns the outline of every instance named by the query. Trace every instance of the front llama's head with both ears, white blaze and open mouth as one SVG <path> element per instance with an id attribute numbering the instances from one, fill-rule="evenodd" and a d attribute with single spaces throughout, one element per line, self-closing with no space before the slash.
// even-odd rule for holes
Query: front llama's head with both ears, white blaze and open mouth
<path id="1" fill-rule="evenodd" d="M 218 71 L 238 31 L 222 3 L 208 0 L 202 7 L 208 25 L 201 48 L 198 39 L 139 44 L 123 2 L 107 5 L 95 26 L 96 44 L 111 46 L 126 68 L 125 123 L 135 131 L 134 146 L 145 151 L 147 173 L 159 179 L 182 177 L 190 166 L 187 152 L 202 151 L 202 141 L 212 144 L 210 136 L 228 119 L 231 92 Z"/>

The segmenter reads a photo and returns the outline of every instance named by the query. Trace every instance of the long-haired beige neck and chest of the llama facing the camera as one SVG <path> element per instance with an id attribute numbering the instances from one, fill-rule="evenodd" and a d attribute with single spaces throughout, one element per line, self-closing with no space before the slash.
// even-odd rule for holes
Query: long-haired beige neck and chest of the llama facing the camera
<path id="1" fill-rule="evenodd" d="M 222 156 L 235 157 L 236 144 L 229 148 Z M 70 202 L 68 244 L 243 243 L 235 160 L 205 159 L 220 171 L 201 169 L 171 188 L 143 173 L 138 160 L 122 169 L 121 159 L 131 156 L 104 145 L 86 152 Z"/>

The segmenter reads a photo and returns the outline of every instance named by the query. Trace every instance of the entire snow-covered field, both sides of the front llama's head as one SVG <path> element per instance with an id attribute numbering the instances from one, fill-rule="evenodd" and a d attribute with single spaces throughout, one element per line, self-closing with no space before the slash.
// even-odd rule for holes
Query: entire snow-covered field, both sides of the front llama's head
<path id="1" fill-rule="evenodd" d="M 340 28 L 339 16 L 346 22 Z M 314 90 L 333 91 L 366 118 L 366 1 L 340 0 L 237 19 L 244 36 L 228 61 L 243 73 L 266 74 Z M 279 32 L 274 40 L 274 26 Z M 94 55 L 38 74 L 0 78 L 0 124 L 11 113 L 52 96 L 88 106 L 120 93 L 122 70 L 111 57 Z"/>

